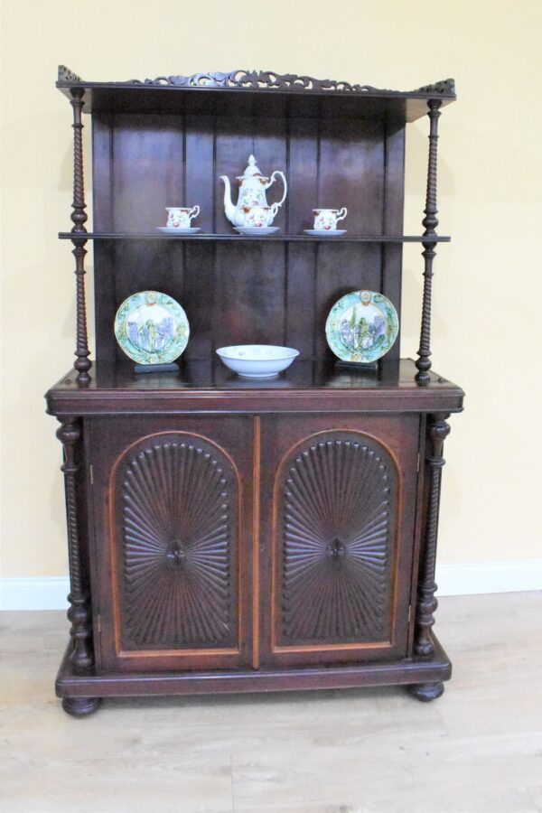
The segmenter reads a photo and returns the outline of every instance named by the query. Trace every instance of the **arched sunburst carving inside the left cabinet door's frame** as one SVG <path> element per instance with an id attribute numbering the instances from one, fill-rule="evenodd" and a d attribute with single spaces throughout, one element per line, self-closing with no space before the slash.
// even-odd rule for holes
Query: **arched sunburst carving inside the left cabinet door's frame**
<path id="1" fill-rule="evenodd" d="M 154 436 L 117 474 L 124 649 L 236 643 L 236 477 L 214 445 Z"/>

